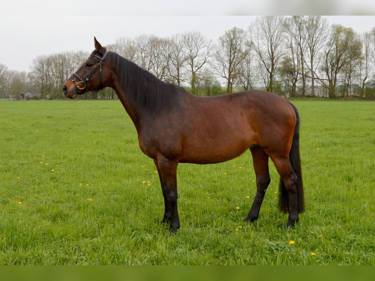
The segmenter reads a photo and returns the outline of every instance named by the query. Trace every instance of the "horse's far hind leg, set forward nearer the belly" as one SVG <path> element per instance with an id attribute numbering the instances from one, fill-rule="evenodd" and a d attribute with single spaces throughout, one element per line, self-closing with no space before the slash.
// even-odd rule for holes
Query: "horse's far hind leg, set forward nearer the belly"
<path id="1" fill-rule="evenodd" d="M 259 217 L 260 207 L 262 206 L 263 198 L 271 179 L 268 168 L 269 156 L 260 146 L 252 146 L 250 151 L 253 157 L 255 176 L 257 178 L 257 194 L 255 194 L 254 202 L 245 221 L 256 221 Z"/>

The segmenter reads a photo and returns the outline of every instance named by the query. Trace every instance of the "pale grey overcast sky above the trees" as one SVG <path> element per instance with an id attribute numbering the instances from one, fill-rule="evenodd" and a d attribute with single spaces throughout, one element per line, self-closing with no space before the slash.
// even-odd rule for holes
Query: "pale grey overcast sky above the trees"
<path id="1" fill-rule="evenodd" d="M 346 16 L 327 16 L 329 23 L 352 27 L 358 32 L 375 27 L 375 16 L 350 16 L 375 14 L 375 4 L 368 0 L 356 0 L 355 4 L 349 0 L 333 0 L 331 4 L 326 0 L 305 0 L 302 6 L 297 4 L 301 0 L 209 1 L 214 4 L 206 4 L 203 0 L 180 3 L 176 0 L 2 2 L 0 63 L 9 70 L 26 72 L 38 55 L 78 50 L 91 52 L 94 36 L 102 45 L 107 45 L 114 43 L 117 37 L 171 36 L 196 30 L 216 40 L 234 26 L 246 30 L 259 14 L 342 14 Z M 339 2 L 341 4 L 337 5 Z"/>

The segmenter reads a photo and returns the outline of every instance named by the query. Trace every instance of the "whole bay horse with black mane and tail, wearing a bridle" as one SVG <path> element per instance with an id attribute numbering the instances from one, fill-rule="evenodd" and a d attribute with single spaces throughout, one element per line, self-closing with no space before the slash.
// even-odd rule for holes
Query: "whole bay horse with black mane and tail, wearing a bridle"
<path id="1" fill-rule="evenodd" d="M 178 163 L 219 163 L 247 149 L 253 158 L 257 193 L 245 221 L 258 219 L 270 184 L 271 158 L 280 175 L 279 209 L 289 212 L 286 227 L 298 222 L 305 203 L 299 152 L 300 118 L 294 105 L 260 90 L 195 96 L 109 52 L 95 37 L 94 43 L 95 50 L 63 85 L 64 95 L 75 99 L 103 87 L 115 90 L 135 125 L 141 151 L 154 160 L 159 172 L 164 197 L 162 222 L 170 221 L 170 232 L 180 227 Z"/>

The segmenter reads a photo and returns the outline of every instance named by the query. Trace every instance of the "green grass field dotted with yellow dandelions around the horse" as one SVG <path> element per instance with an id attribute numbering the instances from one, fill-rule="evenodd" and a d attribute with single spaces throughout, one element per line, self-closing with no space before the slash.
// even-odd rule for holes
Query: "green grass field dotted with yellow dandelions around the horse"
<path id="1" fill-rule="evenodd" d="M 260 218 L 243 222 L 256 191 L 246 152 L 178 166 L 181 228 L 169 235 L 156 169 L 119 101 L 0 100 L 0 264 L 374 265 L 375 104 L 293 103 L 296 227 L 284 229 L 272 162 Z"/>

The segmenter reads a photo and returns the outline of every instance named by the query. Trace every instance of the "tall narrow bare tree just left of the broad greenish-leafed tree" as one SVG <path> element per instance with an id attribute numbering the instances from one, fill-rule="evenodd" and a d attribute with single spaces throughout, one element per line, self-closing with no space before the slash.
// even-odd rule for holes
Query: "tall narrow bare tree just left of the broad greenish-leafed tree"
<path id="1" fill-rule="evenodd" d="M 328 21 L 322 16 L 308 16 L 305 22 L 304 40 L 308 47 L 309 69 L 311 72 L 311 95 L 315 96 L 315 71 L 320 62 L 320 50 L 326 42 Z"/>

